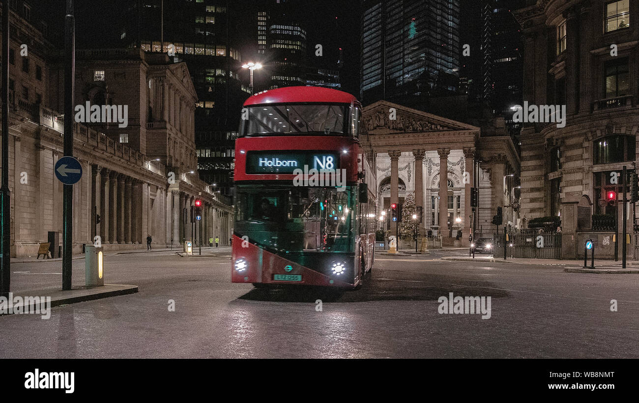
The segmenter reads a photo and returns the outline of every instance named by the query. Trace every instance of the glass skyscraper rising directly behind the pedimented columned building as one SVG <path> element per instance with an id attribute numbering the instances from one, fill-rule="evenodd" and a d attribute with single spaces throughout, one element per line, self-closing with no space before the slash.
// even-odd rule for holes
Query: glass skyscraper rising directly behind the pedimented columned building
<path id="1" fill-rule="evenodd" d="M 459 1 L 363 0 L 360 98 L 447 94 L 459 83 Z"/>

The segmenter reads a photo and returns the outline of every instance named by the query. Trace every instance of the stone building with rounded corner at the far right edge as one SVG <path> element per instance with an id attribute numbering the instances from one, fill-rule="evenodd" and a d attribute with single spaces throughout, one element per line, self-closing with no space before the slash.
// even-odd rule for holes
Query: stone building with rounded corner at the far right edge
<path id="1" fill-rule="evenodd" d="M 602 237 L 599 253 L 610 254 L 613 217 L 623 209 L 603 200 L 607 191 L 621 200 L 614 173 L 639 159 L 639 2 L 528 0 L 515 15 L 525 46 L 524 101 L 565 105 L 567 114 L 566 127 L 522 129 L 522 213 L 560 217 L 567 257 L 582 253 L 585 237 Z M 629 229 L 632 217 L 629 209 Z"/>

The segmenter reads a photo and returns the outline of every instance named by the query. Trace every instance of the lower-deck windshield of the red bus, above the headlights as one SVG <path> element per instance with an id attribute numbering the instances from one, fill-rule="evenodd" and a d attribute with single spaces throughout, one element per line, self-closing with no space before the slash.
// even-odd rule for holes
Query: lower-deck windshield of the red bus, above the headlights
<path id="1" fill-rule="evenodd" d="M 341 189 L 340 189 L 341 190 Z M 238 185 L 238 237 L 273 252 L 352 252 L 355 244 L 353 189 Z"/>

